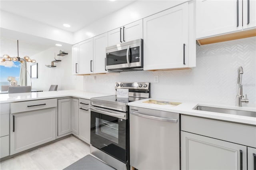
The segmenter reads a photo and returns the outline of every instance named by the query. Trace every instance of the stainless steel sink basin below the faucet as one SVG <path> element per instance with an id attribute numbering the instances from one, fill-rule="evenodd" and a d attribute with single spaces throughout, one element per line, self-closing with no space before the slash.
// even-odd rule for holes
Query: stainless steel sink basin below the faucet
<path id="1" fill-rule="evenodd" d="M 230 114 L 230 115 L 256 117 L 256 112 L 240 111 L 240 110 L 234 110 L 234 109 L 223 109 L 223 108 L 218 108 L 218 107 L 197 106 L 196 108 L 194 108 L 194 110 L 217 112 L 217 113 L 226 113 L 226 114 Z"/>

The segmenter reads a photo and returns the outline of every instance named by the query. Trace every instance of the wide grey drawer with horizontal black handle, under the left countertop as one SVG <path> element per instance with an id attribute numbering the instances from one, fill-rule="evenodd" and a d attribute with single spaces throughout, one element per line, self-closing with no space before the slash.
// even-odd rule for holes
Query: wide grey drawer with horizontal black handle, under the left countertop
<path id="1" fill-rule="evenodd" d="M 26 111 L 34 111 L 39 109 L 46 109 L 57 106 L 57 99 L 25 101 L 18 103 L 11 103 L 11 113 L 19 113 Z"/>

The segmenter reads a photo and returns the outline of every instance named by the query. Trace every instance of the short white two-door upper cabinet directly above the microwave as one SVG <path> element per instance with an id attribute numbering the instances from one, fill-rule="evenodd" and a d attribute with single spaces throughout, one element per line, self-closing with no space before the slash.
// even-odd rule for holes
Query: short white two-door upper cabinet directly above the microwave
<path id="1" fill-rule="evenodd" d="M 138 20 L 120 28 L 108 32 L 108 46 L 142 39 L 143 38 L 143 22 Z"/>

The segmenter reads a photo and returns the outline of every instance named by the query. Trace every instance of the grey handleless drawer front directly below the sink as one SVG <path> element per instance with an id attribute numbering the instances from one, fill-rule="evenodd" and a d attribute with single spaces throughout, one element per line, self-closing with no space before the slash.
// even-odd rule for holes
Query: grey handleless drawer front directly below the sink
<path id="1" fill-rule="evenodd" d="M 181 130 L 256 147 L 254 126 L 182 115 Z"/>

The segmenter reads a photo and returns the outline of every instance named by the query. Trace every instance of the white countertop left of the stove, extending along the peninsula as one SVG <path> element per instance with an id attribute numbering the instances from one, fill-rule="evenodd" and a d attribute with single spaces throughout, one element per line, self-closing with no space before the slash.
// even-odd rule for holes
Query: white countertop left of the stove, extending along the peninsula
<path id="1" fill-rule="evenodd" d="M 30 101 L 39 99 L 50 99 L 58 97 L 78 97 L 83 99 L 90 99 L 92 97 L 101 97 L 114 95 L 109 93 L 91 93 L 82 90 L 61 90 L 61 91 L 42 91 L 32 93 L 12 93 L 0 94 L 0 103 L 10 103 L 17 101 Z"/>

